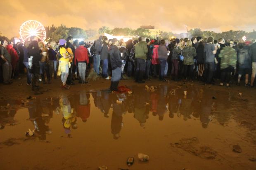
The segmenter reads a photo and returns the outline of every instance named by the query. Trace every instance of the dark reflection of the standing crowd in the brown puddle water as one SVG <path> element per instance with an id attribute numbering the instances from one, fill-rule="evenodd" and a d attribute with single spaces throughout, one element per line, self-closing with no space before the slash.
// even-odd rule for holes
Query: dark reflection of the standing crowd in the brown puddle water
<path id="1" fill-rule="evenodd" d="M 213 119 L 213 114 L 219 123 L 228 121 L 230 115 L 223 113 L 229 102 L 223 102 L 222 99 L 213 100 L 211 91 L 204 91 L 202 88 L 193 88 L 187 90 L 184 95 L 183 89 L 173 89 L 168 86 L 160 86 L 155 91 L 147 91 L 144 88 L 131 86 L 132 94 L 128 93 L 109 93 L 107 91 L 95 91 L 90 93 L 80 91 L 76 95 L 60 95 L 59 98 L 48 98 L 44 100 L 30 100 L 28 103 L 29 120 L 33 123 L 36 136 L 41 140 L 46 139 L 46 134 L 51 133 L 49 128 L 50 118 L 53 113 L 62 115 L 62 126 L 68 137 L 71 131 L 78 128 L 77 120 L 81 119 L 83 123 L 90 117 L 90 100 L 93 98 L 95 107 L 100 109 L 102 116 L 111 117 L 111 133 L 114 139 L 120 137 L 120 131 L 123 127 L 123 115 L 133 114 L 141 127 L 144 127 L 150 112 L 152 116 L 157 116 L 159 121 L 163 121 L 166 115 L 169 118 L 175 116 L 188 119 L 197 118 L 201 121 L 202 127 L 207 128 Z M 117 102 L 119 101 L 119 102 Z M 112 114 L 110 110 L 112 108 Z M 220 110 L 220 109 L 219 109 Z M 2 111 L 0 113 L 1 129 L 5 127 L 6 120 L 14 119 L 17 110 L 12 112 Z M 48 116 L 41 116 L 41 114 Z"/>

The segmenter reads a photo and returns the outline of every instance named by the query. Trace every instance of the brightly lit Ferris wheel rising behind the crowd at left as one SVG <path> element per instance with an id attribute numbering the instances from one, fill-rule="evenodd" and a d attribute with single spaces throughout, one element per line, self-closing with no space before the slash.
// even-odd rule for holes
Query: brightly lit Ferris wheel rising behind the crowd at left
<path id="1" fill-rule="evenodd" d="M 46 32 L 44 26 L 35 20 L 28 20 L 24 22 L 19 29 L 20 38 L 25 41 L 31 36 L 36 36 L 42 41 L 46 39 Z"/>

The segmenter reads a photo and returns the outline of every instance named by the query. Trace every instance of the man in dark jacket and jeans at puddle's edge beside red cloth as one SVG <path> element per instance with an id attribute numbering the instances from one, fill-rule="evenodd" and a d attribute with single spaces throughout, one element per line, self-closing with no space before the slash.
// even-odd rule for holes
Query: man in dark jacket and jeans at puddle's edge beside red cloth
<path id="1" fill-rule="evenodd" d="M 112 46 L 110 47 L 109 54 L 110 54 L 110 63 L 112 68 L 112 77 L 111 77 L 111 85 L 110 90 L 111 91 L 118 91 L 117 87 L 119 84 L 119 80 L 121 78 L 121 72 L 122 72 L 122 60 L 121 60 L 121 54 L 117 46 L 119 45 L 119 42 L 116 38 L 113 38 L 112 40 Z"/>

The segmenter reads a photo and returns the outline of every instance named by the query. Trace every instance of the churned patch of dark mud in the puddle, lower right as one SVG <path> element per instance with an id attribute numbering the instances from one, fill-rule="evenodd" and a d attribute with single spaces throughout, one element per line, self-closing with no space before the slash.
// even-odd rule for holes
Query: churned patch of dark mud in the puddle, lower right
<path id="1" fill-rule="evenodd" d="M 197 137 L 183 138 L 179 142 L 171 143 L 172 147 L 178 147 L 200 158 L 213 159 L 217 152 L 207 146 L 201 146 Z"/>

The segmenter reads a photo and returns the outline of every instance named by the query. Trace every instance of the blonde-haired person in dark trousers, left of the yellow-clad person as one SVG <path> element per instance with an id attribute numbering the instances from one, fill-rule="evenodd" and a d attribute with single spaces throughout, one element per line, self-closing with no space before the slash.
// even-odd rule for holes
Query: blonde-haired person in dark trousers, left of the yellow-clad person
<path id="1" fill-rule="evenodd" d="M 43 80 L 43 84 L 46 84 L 45 82 L 45 72 L 47 76 L 47 83 L 51 83 L 51 78 L 50 78 L 50 67 L 49 67 L 49 52 L 47 48 L 45 47 L 45 44 L 41 41 L 38 42 L 38 46 L 40 49 L 40 55 L 41 55 L 41 60 L 40 60 L 40 75 Z"/>

